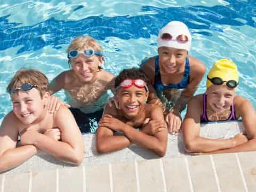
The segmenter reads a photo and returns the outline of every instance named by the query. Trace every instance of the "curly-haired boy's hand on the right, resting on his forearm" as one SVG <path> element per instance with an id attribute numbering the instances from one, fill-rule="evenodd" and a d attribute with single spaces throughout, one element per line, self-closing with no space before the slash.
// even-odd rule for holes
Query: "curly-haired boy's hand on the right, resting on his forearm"
<path id="1" fill-rule="evenodd" d="M 166 123 L 161 120 L 146 118 L 143 122 L 141 131 L 148 135 L 155 135 L 156 133 L 166 129 Z"/>

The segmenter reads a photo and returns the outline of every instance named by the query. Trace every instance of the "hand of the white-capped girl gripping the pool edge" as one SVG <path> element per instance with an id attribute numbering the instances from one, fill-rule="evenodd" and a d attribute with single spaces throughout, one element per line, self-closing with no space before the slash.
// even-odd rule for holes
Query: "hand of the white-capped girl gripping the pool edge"
<path id="1" fill-rule="evenodd" d="M 171 134 L 179 134 L 181 126 L 181 116 L 180 114 L 174 114 L 170 112 L 166 117 L 165 121 L 167 123 L 167 128 Z"/>

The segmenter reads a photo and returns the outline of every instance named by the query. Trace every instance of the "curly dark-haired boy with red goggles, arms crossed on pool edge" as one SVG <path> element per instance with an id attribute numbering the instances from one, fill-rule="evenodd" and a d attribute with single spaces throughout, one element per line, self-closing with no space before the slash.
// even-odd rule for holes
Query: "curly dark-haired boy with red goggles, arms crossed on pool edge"
<path id="1" fill-rule="evenodd" d="M 167 146 L 167 127 L 163 108 L 147 104 L 148 78 L 140 69 L 124 69 L 115 79 L 116 100 L 105 106 L 96 133 L 98 153 L 116 151 L 132 142 L 164 156 Z M 146 121 L 145 121 L 146 120 Z M 141 128 L 140 131 L 135 128 Z M 124 135 L 114 135 L 114 132 Z"/>

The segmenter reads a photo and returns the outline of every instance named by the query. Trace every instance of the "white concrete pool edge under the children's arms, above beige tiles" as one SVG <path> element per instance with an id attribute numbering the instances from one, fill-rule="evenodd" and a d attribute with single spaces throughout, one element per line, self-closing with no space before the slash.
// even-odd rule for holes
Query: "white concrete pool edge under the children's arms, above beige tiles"
<path id="1" fill-rule="evenodd" d="M 201 135 L 206 138 L 224 139 L 233 137 L 242 130 L 243 125 L 242 122 L 239 121 L 209 123 L 202 125 Z M 151 151 L 143 149 L 135 144 L 114 153 L 98 154 L 95 149 L 95 135 L 85 134 L 83 137 L 85 151 L 84 161 L 81 166 L 97 166 L 108 163 L 134 162 L 159 158 Z M 177 136 L 169 134 L 166 155 L 164 158 L 186 156 L 183 152 L 182 135 L 179 134 Z M 37 155 L 31 157 L 27 162 L 7 171 L 6 174 L 63 169 L 64 167 L 70 166 L 73 167 L 72 165 L 57 161 L 49 154 L 39 152 Z"/>

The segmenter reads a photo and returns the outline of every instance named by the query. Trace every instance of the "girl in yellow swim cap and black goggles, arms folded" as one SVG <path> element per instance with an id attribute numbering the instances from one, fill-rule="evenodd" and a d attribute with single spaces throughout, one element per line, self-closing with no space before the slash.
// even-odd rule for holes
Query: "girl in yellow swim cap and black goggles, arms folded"
<path id="1" fill-rule="evenodd" d="M 256 150 L 256 113 L 252 103 L 236 95 L 238 71 L 235 63 L 221 59 L 214 63 L 207 76 L 204 94 L 188 103 L 182 123 L 183 140 L 188 153 L 230 153 Z M 243 119 L 244 131 L 231 139 L 200 137 L 200 123 Z"/>

